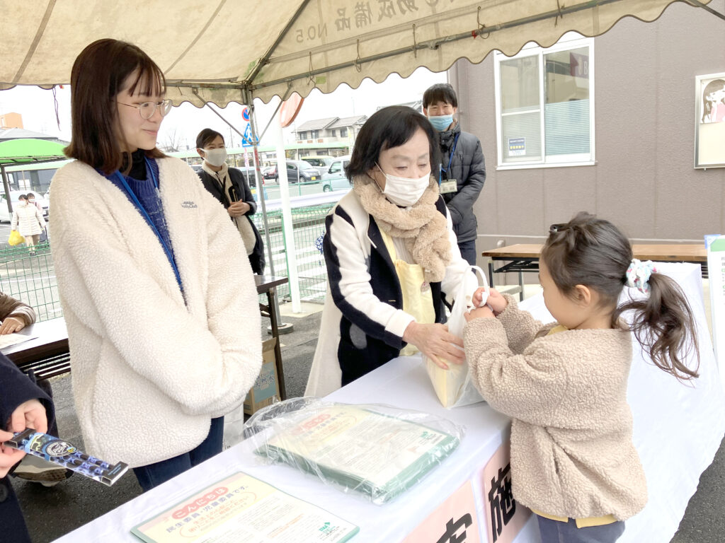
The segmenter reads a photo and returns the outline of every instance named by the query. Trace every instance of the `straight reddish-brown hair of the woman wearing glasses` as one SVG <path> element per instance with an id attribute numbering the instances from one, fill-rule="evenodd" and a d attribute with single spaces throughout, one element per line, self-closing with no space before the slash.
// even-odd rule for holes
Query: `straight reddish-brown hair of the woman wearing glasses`
<path id="1" fill-rule="evenodd" d="M 162 94 L 166 80 L 161 69 L 137 46 L 104 38 L 86 46 L 70 72 L 70 116 L 72 132 L 66 156 L 110 174 L 130 168 L 128 153 L 120 144 L 115 96 L 123 90 L 129 75 L 136 73 L 128 91 L 144 85 L 144 94 Z M 146 151 L 149 158 L 161 158 L 157 148 Z"/>

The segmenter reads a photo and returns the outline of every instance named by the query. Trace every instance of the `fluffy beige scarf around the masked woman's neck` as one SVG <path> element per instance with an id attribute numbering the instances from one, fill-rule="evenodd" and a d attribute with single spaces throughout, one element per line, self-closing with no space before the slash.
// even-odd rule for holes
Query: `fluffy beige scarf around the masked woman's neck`
<path id="1" fill-rule="evenodd" d="M 451 260 L 451 247 L 446 217 L 436 209 L 438 183 L 434 177 L 421 199 L 409 208 L 389 201 L 368 175 L 355 177 L 352 187 L 381 230 L 391 237 L 402 237 L 415 263 L 423 267 L 426 281 L 441 281 Z"/>

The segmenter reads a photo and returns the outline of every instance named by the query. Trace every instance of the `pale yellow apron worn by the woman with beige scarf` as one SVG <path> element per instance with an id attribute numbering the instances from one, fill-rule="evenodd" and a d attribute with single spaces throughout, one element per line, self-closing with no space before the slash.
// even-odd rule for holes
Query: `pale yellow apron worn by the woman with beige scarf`
<path id="1" fill-rule="evenodd" d="M 400 260 L 397 257 L 392 237 L 382 230 L 380 233 L 395 265 L 395 273 L 398 276 L 400 290 L 403 294 L 403 311 L 413 315 L 415 322 L 419 324 L 433 324 L 436 321 L 436 310 L 433 305 L 431 285 L 428 284 L 425 274 L 423 274 L 423 266 L 408 264 L 405 260 Z M 409 356 L 415 353 L 418 353 L 418 348 L 410 343 L 400 351 L 401 356 Z"/>

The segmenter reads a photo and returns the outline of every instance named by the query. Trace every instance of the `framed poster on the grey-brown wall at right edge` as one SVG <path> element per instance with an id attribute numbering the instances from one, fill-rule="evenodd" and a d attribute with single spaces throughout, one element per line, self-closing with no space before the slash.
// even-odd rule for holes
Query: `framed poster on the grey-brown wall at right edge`
<path id="1" fill-rule="evenodd" d="M 695 168 L 725 168 L 725 72 L 695 77 Z"/>

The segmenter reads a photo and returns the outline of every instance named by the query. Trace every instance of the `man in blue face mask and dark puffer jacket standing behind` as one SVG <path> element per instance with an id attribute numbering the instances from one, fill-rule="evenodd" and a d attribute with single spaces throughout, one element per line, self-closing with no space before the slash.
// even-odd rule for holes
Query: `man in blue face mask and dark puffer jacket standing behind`
<path id="1" fill-rule="evenodd" d="M 486 182 L 486 163 L 479 138 L 460 130 L 453 118 L 457 109 L 455 90 L 447 83 L 436 83 L 423 93 L 423 113 L 436 129 L 441 151 L 441 163 L 433 173 L 453 219 L 460 255 L 475 266 L 479 224 L 473 203 Z"/>

